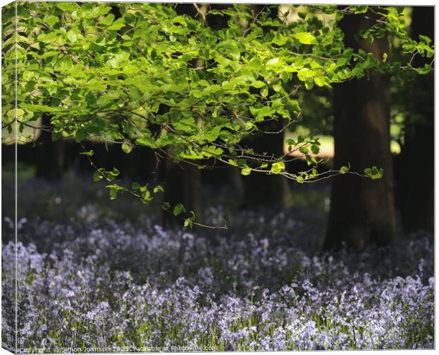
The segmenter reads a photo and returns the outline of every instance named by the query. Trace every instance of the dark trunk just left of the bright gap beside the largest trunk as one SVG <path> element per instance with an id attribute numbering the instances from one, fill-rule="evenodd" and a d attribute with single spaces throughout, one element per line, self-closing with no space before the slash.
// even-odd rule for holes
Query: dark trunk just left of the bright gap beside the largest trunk
<path id="1" fill-rule="evenodd" d="M 270 17 L 278 17 L 278 6 L 253 4 L 253 13 L 258 16 L 261 11 L 270 9 Z M 264 31 L 270 28 L 263 28 Z M 270 91 L 269 95 L 273 95 Z M 279 132 L 283 129 L 283 119 L 261 122 L 258 128 L 265 132 Z M 284 133 L 264 134 L 257 133 L 246 140 L 250 148 L 257 153 L 266 152 L 268 155 L 281 156 L 284 153 Z M 290 187 L 287 179 L 278 175 L 265 175 L 252 173 L 244 177 L 244 203 L 243 208 L 256 206 L 277 206 L 284 208 L 292 204 Z"/>

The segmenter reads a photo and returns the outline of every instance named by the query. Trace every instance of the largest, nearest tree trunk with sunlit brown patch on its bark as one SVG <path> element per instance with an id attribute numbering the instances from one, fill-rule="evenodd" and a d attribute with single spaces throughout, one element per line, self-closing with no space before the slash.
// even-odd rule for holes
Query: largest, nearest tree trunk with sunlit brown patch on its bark
<path id="1" fill-rule="evenodd" d="M 355 41 L 353 35 L 369 28 L 373 13 L 345 16 L 340 27 L 345 43 L 382 58 L 387 40 Z M 395 238 L 392 155 L 390 152 L 389 78 L 370 71 L 366 77 L 334 86 L 334 167 L 350 163 L 363 173 L 372 165 L 384 169 L 379 180 L 340 175 L 333 179 L 331 209 L 324 248 L 363 249 L 370 243 L 390 245 Z"/>

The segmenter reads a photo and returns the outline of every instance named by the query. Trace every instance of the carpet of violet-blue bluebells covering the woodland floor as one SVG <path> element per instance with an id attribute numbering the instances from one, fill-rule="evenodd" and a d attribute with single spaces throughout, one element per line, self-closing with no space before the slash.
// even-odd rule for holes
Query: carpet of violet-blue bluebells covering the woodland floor
<path id="1" fill-rule="evenodd" d="M 54 189 L 32 184 L 22 191 Z M 42 214 L 47 208 L 39 207 L 45 219 L 20 209 L 29 216 L 18 223 L 18 347 L 435 346 L 429 235 L 401 237 L 393 251 L 330 255 L 319 250 L 324 222 L 318 211 L 314 217 L 303 209 L 240 211 L 232 218 L 240 222 L 231 221 L 227 231 L 164 229 L 153 213 L 116 221 L 99 204 L 76 204 L 74 189 L 58 189 L 53 213 L 65 207 L 69 218 L 50 219 Z M 130 211 L 125 203 L 113 209 Z M 212 207 L 207 221 L 221 223 L 224 214 Z M 11 344 L 11 217 L 4 215 L 2 225 L 2 338 Z"/>

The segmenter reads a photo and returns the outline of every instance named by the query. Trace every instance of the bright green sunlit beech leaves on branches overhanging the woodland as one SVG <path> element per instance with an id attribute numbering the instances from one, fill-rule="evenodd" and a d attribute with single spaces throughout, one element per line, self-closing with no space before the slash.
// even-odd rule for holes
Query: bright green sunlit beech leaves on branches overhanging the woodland
<path id="1" fill-rule="evenodd" d="M 281 120 L 286 129 L 300 115 L 298 91 L 365 76 L 368 70 L 406 75 L 424 74 L 431 66 L 412 68 L 375 58 L 343 44 L 338 21 L 343 16 L 373 11 L 375 25 L 360 37 L 373 40 L 392 33 L 408 58 L 433 57 L 427 37 L 407 35 L 402 8 L 375 6 L 308 6 L 295 21 L 288 13 L 273 18 L 268 8 L 254 13 L 249 5 L 214 10 L 196 6 L 200 16 L 179 15 L 170 4 L 109 4 L 19 2 L 17 6 L 17 125 L 33 126 L 42 115 L 51 119 L 53 139 L 96 137 L 120 144 L 125 153 L 147 146 L 176 161 L 200 168 L 220 162 L 251 173 L 280 174 L 297 182 L 312 182 L 341 170 L 317 173 L 318 139 L 288 139 L 289 152 L 300 151 L 310 168 L 288 173 L 284 156 L 272 156 L 241 146 L 260 123 Z M 3 127 L 15 119 L 15 9 L 4 11 Z M 227 16 L 227 28 L 212 29 L 209 16 Z M 9 20 L 9 21 L 7 21 Z M 407 74 L 409 75 L 409 74 Z M 86 153 L 92 161 L 93 152 Z M 110 197 L 129 192 L 155 203 L 161 187 L 115 180 L 117 169 L 96 167 L 94 180 L 107 180 Z M 360 174 L 362 175 L 362 174 Z M 365 175 L 379 178 L 376 167 Z M 183 205 L 159 205 L 173 214 Z M 183 218 L 183 217 L 182 217 Z M 188 212 L 186 225 L 195 215 Z"/>

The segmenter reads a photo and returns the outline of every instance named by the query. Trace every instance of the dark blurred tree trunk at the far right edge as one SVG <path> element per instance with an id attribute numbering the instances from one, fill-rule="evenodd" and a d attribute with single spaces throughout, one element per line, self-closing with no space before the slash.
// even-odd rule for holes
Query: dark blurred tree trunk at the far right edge
<path id="1" fill-rule="evenodd" d="M 411 35 L 427 35 L 434 43 L 434 7 L 415 6 Z M 417 57 L 414 66 L 430 63 Z M 411 83 L 414 105 L 406 118 L 401 146 L 400 209 L 404 232 L 434 231 L 434 74 L 417 76 Z"/>

